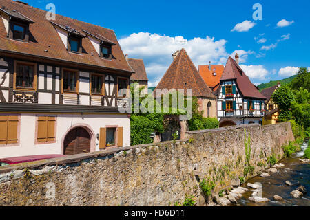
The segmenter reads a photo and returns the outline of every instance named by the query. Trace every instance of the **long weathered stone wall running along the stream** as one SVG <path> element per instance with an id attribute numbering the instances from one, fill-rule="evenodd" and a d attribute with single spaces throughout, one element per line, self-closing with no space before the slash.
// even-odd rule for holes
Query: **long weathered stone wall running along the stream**
<path id="1" fill-rule="evenodd" d="M 2 167 L 0 206 L 173 206 L 186 194 L 203 206 L 199 180 L 214 179 L 216 193 L 243 175 L 244 129 L 256 172 L 270 155 L 282 158 L 282 145 L 294 139 L 289 122 L 236 126 L 189 132 L 177 142 Z"/>

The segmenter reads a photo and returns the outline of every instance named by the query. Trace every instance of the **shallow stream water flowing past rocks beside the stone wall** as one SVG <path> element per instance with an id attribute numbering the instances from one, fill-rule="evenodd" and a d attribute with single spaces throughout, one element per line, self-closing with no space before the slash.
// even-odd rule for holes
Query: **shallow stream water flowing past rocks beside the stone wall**
<path id="1" fill-rule="evenodd" d="M 262 197 L 270 199 L 267 203 L 254 203 L 249 201 L 251 190 L 246 192 L 238 201 L 236 206 L 310 206 L 310 164 L 303 164 L 298 159 L 304 156 L 304 150 L 307 149 L 308 143 L 302 145 L 302 151 L 293 155 L 289 159 L 282 159 L 281 163 L 285 164 L 284 168 L 278 168 L 278 173 L 270 173 L 270 177 L 254 177 L 247 183 L 261 183 Z M 285 181 L 299 181 L 302 186 L 307 189 L 307 194 L 302 198 L 294 199 L 291 192 L 296 190 L 298 186 L 287 186 Z M 247 183 L 242 187 L 247 188 Z M 279 195 L 285 201 L 273 201 L 273 196 Z"/>

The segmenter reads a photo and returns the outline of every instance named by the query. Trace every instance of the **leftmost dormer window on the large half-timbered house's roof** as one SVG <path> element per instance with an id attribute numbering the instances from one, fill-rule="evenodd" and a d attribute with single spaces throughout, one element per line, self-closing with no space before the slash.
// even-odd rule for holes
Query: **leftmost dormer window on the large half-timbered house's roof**
<path id="1" fill-rule="evenodd" d="M 34 23 L 28 17 L 17 12 L 16 10 L 7 10 L 6 8 L 1 8 L 0 13 L 4 20 L 6 20 L 6 31 L 9 39 L 14 39 L 17 41 L 29 41 L 29 25 Z"/>

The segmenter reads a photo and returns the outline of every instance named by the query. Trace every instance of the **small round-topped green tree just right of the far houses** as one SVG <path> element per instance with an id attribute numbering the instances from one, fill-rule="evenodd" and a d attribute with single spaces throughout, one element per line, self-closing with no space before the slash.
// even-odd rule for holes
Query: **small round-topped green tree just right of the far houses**
<path id="1" fill-rule="evenodd" d="M 291 120 L 291 104 L 294 100 L 291 88 L 287 85 L 281 86 L 272 94 L 271 98 L 279 106 L 279 120 L 282 122 Z"/>

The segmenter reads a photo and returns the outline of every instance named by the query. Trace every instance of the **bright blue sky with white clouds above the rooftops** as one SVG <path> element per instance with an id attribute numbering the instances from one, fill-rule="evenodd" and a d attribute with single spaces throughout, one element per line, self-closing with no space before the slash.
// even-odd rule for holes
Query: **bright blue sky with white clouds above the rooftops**
<path id="1" fill-rule="evenodd" d="M 225 65 L 238 52 L 255 84 L 310 67 L 307 0 L 26 2 L 43 10 L 54 3 L 56 14 L 113 29 L 125 54 L 145 60 L 150 85 L 165 74 L 183 39 L 197 67 Z M 262 5 L 262 21 L 252 17 L 255 3 Z"/>

